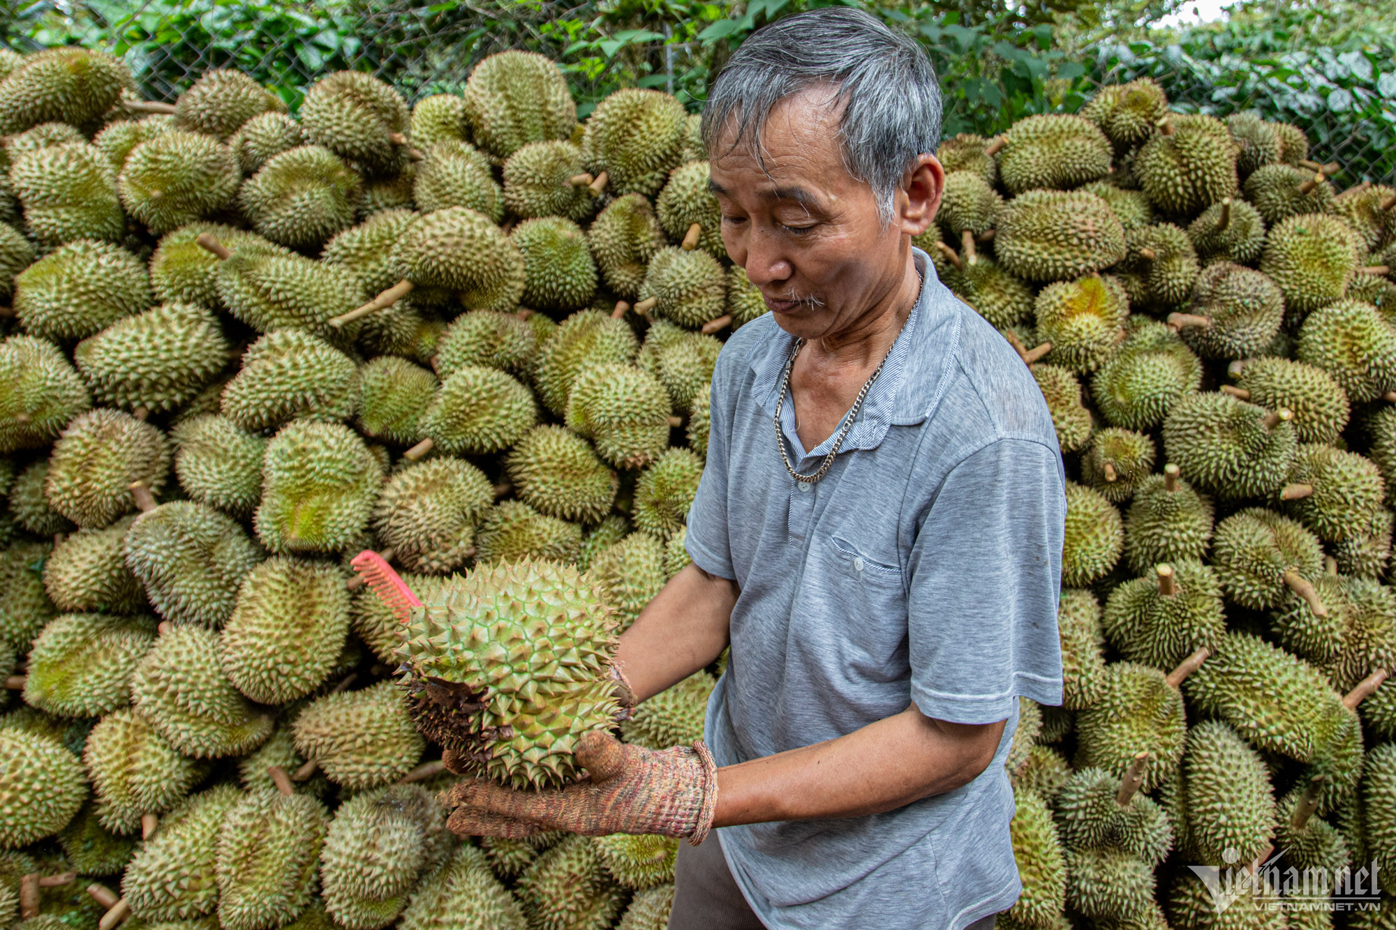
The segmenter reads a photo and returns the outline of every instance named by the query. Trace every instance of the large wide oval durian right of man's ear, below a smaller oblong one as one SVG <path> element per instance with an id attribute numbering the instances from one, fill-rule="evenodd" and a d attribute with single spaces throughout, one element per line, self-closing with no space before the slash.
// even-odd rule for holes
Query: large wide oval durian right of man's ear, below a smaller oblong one
<path id="1" fill-rule="evenodd" d="M 994 250 L 1019 278 L 1068 281 L 1124 258 L 1125 230 L 1094 194 L 1036 190 L 1004 205 Z"/>

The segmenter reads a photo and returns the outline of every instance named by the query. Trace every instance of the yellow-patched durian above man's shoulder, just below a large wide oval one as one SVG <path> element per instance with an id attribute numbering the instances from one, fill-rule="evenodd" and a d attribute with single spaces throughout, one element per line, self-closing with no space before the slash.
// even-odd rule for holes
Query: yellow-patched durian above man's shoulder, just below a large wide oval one
<path id="1" fill-rule="evenodd" d="M 1115 278 L 1090 275 L 1047 285 L 1037 293 L 1033 311 L 1037 338 L 1051 344 L 1047 360 L 1087 374 L 1120 342 L 1129 300 Z"/>

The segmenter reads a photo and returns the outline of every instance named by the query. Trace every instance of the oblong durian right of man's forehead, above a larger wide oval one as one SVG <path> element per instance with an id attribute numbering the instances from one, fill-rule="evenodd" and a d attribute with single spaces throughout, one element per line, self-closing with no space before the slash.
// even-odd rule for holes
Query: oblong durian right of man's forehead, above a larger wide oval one
<path id="1" fill-rule="evenodd" d="M 1069 190 L 1110 172 L 1110 140 L 1083 116 L 1029 116 L 1002 138 L 998 175 L 1009 194 Z"/>

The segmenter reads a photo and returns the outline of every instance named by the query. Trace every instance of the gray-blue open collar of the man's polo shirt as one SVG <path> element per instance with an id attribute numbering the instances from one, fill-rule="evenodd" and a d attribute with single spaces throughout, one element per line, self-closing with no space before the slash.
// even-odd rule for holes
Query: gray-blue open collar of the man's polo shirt
<path id="1" fill-rule="evenodd" d="M 930 256 L 914 246 L 912 256 L 917 271 L 924 276 L 921 295 L 892 344 L 882 373 L 868 388 L 859 416 L 843 440 L 843 450 L 877 448 L 891 426 L 924 422 L 940 402 L 946 383 L 945 371 L 959 350 L 960 303 L 940 282 Z M 793 345 L 794 337 L 779 325 L 772 325 L 771 335 L 751 353 L 751 370 L 755 374 L 752 398 L 769 418 L 776 413 L 780 376 L 785 374 Z M 792 425 L 793 404 L 789 395 L 785 406 L 782 420 Z M 793 429 L 787 431 L 793 433 Z M 826 454 L 832 438 L 831 436 L 818 448 L 810 450 L 805 458 Z"/>

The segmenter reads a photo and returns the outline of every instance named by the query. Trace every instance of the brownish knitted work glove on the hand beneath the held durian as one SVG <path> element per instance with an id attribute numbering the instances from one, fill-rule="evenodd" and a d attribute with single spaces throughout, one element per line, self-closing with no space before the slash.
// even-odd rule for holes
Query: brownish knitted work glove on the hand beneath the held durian
<path id="1" fill-rule="evenodd" d="M 560 790 L 519 792 L 466 778 L 444 795 L 447 827 L 461 836 L 522 839 L 551 829 L 589 836 L 659 834 L 694 846 L 712 827 L 718 767 L 702 740 L 656 751 L 592 732 L 577 743 L 588 778 Z M 455 768 L 454 758 L 447 767 Z"/>

